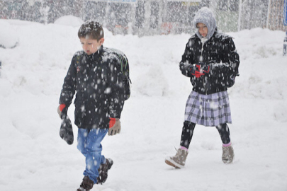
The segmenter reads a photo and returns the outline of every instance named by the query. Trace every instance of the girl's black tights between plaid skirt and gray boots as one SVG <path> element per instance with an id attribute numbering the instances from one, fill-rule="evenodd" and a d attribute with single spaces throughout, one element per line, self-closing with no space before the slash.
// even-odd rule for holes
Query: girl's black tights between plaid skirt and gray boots
<path id="1" fill-rule="evenodd" d="M 182 127 L 182 133 L 181 133 L 181 146 L 186 147 L 188 149 L 189 144 L 191 144 L 191 139 L 193 136 L 194 127 L 196 127 L 196 124 L 193 122 L 184 122 L 184 127 Z M 218 132 L 221 137 L 221 141 L 223 141 L 223 144 L 230 143 L 230 132 L 229 128 L 226 123 L 216 126 L 216 129 L 218 129 Z"/>

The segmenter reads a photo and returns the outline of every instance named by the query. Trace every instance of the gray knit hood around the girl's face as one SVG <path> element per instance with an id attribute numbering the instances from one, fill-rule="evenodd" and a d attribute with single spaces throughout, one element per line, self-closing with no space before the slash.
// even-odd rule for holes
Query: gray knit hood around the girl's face
<path id="1" fill-rule="evenodd" d="M 216 29 L 216 21 L 213 12 L 207 7 L 199 9 L 196 13 L 196 16 L 194 16 L 193 20 L 194 28 L 196 28 L 197 23 L 203 23 L 207 26 L 208 35 L 206 37 L 209 40 L 210 37 L 213 36 Z M 198 37 L 201 39 L 201 34 L 198 32 L 198 30 L 196 30 L 196 35 L 198 35 Z"/>

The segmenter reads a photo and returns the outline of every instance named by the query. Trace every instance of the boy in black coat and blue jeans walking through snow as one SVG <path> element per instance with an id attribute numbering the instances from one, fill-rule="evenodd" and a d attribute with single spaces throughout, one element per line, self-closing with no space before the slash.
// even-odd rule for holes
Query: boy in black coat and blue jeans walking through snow
<path id="1" fill-rule="evenodd" d="M 113 161 L 101 155 L 101 141 L 120 133 L 120 113 L 124 105 L 123 74 L 118 50 L 103 47 L 103 28 L 98 22 L 87 21 L 78 31 L 83 47 L 76 52 L 64 78 L 58 113 L 67 116 L 74 100 L 75 125 L 78 129 L 77 148 L 86 157 L 84 179 L 78 190 L 91 190 L 103 183 Z M 100 171 L 100 172 L 99 172 Z"/>

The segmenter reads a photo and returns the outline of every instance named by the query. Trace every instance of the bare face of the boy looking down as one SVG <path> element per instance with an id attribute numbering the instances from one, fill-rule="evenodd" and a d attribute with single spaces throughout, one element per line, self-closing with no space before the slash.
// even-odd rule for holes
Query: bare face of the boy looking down
<path id="1" fill-rule="evenodd" d="M 84 52 L 88 55 L 97 52 L 101 45 L 103 45 L 103 41 L 105 41 L 103 38 L 98 41 L 91 38 L 80 37 L 81 46 L 83 47 Z"/>

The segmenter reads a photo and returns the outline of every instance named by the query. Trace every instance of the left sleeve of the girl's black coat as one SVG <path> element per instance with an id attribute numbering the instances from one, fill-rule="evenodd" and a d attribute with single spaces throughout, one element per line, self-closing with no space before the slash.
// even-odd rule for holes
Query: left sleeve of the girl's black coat
<path id="1" fill-rule="evenodd" d="M 190 48 L 191 43 L 191 40 L 188 40 L 186 44 L 186 49 L 184 50 L 184 54 L 181 57 L 181 62 L 179 62 L 179 69 L 181 71 L 181 74 L 187 77 L 192 77 L 191 72 L 189 72 L 189 69 L 191 68 L 191 64 L 194 64 L 189 62 L 190 60 L 193 60 L 193 52 L 191 52 Z"/>

